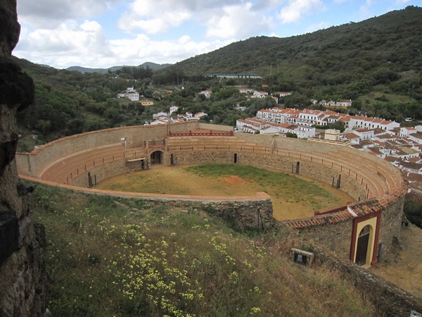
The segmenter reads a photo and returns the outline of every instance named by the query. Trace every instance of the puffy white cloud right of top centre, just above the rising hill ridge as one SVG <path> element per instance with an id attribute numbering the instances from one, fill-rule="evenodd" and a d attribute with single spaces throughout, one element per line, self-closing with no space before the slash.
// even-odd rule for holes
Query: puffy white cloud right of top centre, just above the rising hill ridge
<path id="1" fill-rule="evenodd" d="M 271 18 L 251 11 L 250 2 L 241 5 L 225 6 L 207 19 L 207 37 L 245 38 L 271 29 Z"/>

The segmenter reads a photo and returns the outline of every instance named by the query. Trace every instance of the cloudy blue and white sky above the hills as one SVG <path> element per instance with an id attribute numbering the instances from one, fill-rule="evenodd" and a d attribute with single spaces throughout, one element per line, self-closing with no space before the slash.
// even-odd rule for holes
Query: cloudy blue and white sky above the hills
<path id="1" fill-rule="evenodd" d="M 18 0 L 13 55 L 56 68 L 176 63 L 260 35 L 359 22 L 421 0 Z"/>

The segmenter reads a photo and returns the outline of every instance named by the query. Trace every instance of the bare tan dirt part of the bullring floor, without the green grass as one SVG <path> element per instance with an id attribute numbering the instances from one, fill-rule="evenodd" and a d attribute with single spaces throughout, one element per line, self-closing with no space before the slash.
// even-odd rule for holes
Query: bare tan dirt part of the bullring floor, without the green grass
<path id="1" fill-rule="evenodd" d="M 286 220 L 305 218 L 314 215 L 314 211 L 326 210 L 353 201 L 345 192 L 333 189 L 316 180 L 300 177 L 307 182 L 324 189 L 324 194 L 315 195 L 303 189 L 297 192 L 288 185 L 259 185 L 251 180 L 238 180 L 221 176 L 206 177 L 189 173 L 188 166 L 153 166 L 150 170 L 141 170 L 103 180 L 96 188 L 122 190 L 125 192 L 146 192 L 158 194 L 185 194 L 206 196 L 248 196 L 257 192 L 266 192 L 274 206 L 274 218 Z M 236 176 L 236 175 L 235 175 Z"/>

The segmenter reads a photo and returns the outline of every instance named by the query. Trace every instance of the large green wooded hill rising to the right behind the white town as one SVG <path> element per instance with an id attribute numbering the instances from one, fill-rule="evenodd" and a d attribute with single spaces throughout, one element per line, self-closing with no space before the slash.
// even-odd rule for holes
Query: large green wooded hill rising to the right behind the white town
<path id="1" fill-rule="evenodd" d="M 392 92 L 410 92 L 421 99 L 421 53 L 422 8 L 408 6 L 306 35 L 252 37 L 188 58 L 158 74 L 166 81 L 175 75 L 255 73 L 277 89 L 299 89 L 307 97 L 338 94 L 347 99 L 356 99 L 376 85 L 387 85 Z"/>

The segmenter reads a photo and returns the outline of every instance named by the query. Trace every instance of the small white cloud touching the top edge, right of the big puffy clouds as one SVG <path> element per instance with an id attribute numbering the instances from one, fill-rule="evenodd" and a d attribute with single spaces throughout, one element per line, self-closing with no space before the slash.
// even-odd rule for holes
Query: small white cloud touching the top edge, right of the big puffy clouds
<path id="1" fill-rule="evenodd" d="M 293 23 L 302 20 L 304 15 L 324 10 L 321 0 L 290 0 L 288 6 L 281 8 L 278 18 L 281 23 Z"/>

